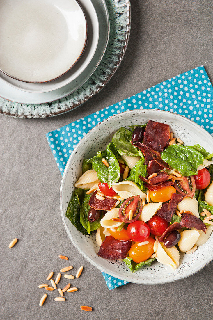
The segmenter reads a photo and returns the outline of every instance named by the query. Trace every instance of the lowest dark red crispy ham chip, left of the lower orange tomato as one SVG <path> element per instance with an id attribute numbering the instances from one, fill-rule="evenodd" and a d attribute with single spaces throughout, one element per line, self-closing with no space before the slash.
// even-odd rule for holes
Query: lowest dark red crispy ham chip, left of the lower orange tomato
<path id="1" fill-rule="evenodd" d="M 131 244 L 131 240 L 120 241 L 112 236 L 106 236 L 100 246 L 98 256 L 110 260 L 124 259 L 127 257 Z"/>

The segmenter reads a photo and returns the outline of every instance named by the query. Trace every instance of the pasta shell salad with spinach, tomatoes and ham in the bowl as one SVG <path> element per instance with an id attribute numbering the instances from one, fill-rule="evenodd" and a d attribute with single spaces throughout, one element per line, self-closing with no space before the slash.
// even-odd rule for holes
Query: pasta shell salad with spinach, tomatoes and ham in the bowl
<path id="1" fill-rule="evenodd" d="M 185 146 L 168 124 L 121 127 L 106 150 L 84 159 L 66 216 L 98 256 L 131 272 L 154 260 L 179 265 L 213 230 L 213 153 Z"/>

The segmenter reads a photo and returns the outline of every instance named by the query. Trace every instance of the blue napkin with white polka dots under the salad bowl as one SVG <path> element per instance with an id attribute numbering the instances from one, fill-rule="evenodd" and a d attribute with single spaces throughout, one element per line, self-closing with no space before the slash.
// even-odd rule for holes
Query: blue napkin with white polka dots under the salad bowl
<path id="1" fill-rule="evenodd" d="M 96 124 L 116 113 L 145 108 L 168 110 L 183 115 L 213 136 L 213 87 L 201 66 L 47 133 L 46 138 L 61 174 L 79 140 Z M 127 283 L 104 272 L 102 274 L 110 290 Z"/>

